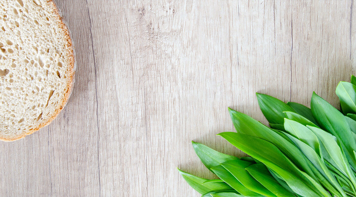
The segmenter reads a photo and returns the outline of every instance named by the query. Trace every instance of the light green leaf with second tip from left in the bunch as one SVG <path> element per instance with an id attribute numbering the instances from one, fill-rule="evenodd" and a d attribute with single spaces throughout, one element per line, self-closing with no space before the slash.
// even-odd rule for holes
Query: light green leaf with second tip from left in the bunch
<path id="1" fill-rule="evenodd" d="M 197 142 L 192 141 L 192 145 L 195 150 L 195 153 L 198 155 L 201 162 L 203 162 L 203 164 L 209 170 L 211 167 L 217 166 L 221 163 L 224 163 L 225 161 L 239 159 L 235 156 L 219 153 L 218 151 L 213 150 L 213 149 L 211 149 L 203 144 L 197 143 Z M 212 171 L 212 170 L 210 170 L 210 171 Z"/>

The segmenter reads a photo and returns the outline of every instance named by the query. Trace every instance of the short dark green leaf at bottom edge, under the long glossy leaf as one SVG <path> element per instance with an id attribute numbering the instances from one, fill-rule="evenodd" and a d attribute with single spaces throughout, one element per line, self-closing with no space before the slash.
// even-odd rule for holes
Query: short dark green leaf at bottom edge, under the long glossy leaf
<path id="1" fill-rule="evenodd" d="M 269 191 L 278 197 L 295 196 L 282 187 L 276 179 L 273 178 L 267 167 L 262 164 L 253 164 L 245 168 L 250 175 L 265 186 Z"/>

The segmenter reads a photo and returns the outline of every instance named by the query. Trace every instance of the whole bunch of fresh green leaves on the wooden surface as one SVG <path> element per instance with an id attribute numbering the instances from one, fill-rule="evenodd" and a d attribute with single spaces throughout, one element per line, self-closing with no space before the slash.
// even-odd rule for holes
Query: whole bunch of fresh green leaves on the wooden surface
<path id="1" fill-rule="evenodd" d="M 251 157 L 192 142 L 219 179 L 179 173 L 203 197 L 356 197 L 356 78 L 336 87 L 341 110 L 313 93 L 310 108 L 257 94 L 269 122 L 229 108 L 236 132 L 218 135 Z"/>

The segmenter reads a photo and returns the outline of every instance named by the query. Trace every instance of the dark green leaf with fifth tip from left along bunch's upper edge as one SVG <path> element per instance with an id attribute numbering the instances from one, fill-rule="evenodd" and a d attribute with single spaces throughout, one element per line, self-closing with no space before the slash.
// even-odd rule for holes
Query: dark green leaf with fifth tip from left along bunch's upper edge
<path id="1" fill-rule="evenodd" d="M 256 96 L 258 105 L 260 105 L 261 111 L 269 123 L 283 124 L 283 119 L 286 117 L 283 112 L 294 112 L 292 107 L 272 96 L 259 93 L 256 93 Z"/>

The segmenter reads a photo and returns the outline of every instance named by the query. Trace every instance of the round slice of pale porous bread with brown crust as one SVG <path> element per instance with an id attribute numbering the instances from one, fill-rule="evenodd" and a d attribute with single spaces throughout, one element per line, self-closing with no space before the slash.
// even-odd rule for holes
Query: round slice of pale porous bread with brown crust
<path id="1" fill-rule="evenodd" d="M 49 124 L 73 86 L 69 31 L 50 0 L 0 0 L 0 140 Z"/>

